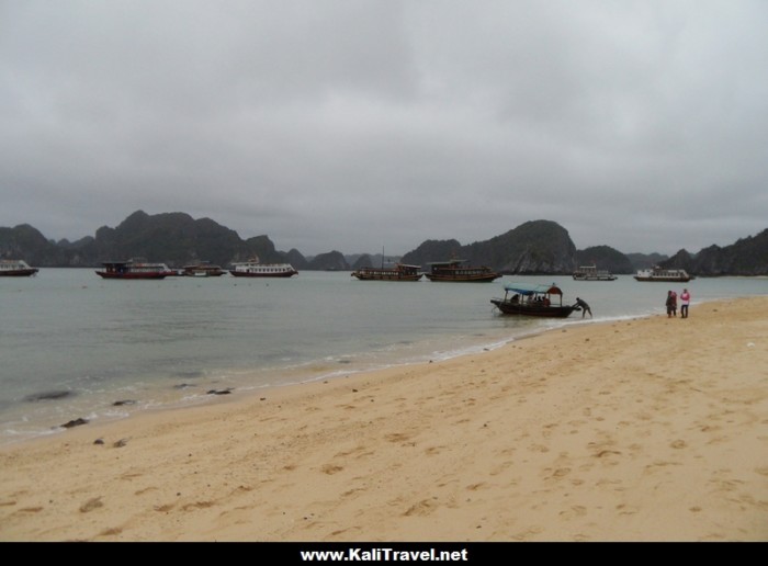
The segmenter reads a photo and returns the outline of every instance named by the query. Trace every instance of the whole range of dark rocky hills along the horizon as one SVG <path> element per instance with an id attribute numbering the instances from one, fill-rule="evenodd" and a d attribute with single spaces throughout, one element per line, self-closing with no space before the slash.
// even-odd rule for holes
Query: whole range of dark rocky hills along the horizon
<path id="1" fill-rule="evenodd" d="M 226 267 L 258 257 L 263 263 L 289 262 L 298 271 L 347 271 L 382 262 L 422 265 L 451 258 L 471 265 L 487 265 L 510 274 L 571 274 L 578 265 L 596 264 L 612 273 L 629 274 L 653 265 L 682 268 L 694 275 L 768 275 L 768 229 L 731 246 L 711 246 L 699 253 L 678 251 L 671 258 L 652 253 L 624 254 L 608 246 L 577 250 L 568 231 L 552 220 L 531 220 L 488 240 L 462 246 L 455 239 L 426 240 L 402 258 L 376 254 L 345 257 L 329 251 L 310 259 L 292 249 L 278 251 L 268 236 L 241 239 L 235 230 L 211 218 L 185 213 L 148 215 L 137 211 L 117 227 L 102 226 L 95 236 L 77 241 L 48 240 L 22 224 L 0 227 L 0 257 L 24 259 L 34 267 L 99 267 L 105 261 L 145 258 L 181 268 L 195 261 Z"/>

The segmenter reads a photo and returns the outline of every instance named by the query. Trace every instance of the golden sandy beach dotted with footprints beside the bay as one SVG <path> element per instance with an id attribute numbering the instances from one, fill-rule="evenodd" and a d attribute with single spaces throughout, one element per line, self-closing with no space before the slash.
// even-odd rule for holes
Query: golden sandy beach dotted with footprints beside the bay
<path id="1" fill-rule="evenodd" d="M 768 541 L 768 297 L 0 449 L 2 541 Z"/>

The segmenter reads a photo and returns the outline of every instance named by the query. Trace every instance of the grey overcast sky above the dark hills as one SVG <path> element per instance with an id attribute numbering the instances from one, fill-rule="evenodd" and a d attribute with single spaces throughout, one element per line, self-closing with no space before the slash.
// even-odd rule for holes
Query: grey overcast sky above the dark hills
<path id="1" fill-rule="evenodd" d="M 0 226 L 305 254 L 768 228 L 765 0 L 0 0 Z"/>

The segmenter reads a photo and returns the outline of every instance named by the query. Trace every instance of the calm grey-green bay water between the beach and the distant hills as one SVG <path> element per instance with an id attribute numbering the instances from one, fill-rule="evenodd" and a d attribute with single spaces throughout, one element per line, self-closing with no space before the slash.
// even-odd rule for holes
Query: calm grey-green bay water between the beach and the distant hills
<path id="1" fill-rule="evenodd" d="M 580 324 L 499 316 L 504 283 L 558 284 L 595 318 L 664 312 L 681 284 L 505 276 L 494 283 L 362 282 L 348 272 L 286 280 L 168 278 L 104 281 L 91 269 L 0 278 L 0 443 L 59 433 L 77 418 L 122 418 L 147 407 L 205 403 L 393 364 L 495 348 Z M 698 304 L 768 294 L 765 278 L 697 279 Z M 587 318 L 588 322 L 591 322 Z M 131 404 L 116 406 L 115 401 Z"/>

